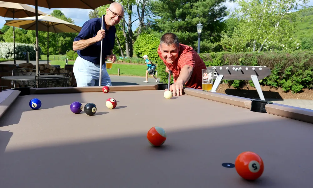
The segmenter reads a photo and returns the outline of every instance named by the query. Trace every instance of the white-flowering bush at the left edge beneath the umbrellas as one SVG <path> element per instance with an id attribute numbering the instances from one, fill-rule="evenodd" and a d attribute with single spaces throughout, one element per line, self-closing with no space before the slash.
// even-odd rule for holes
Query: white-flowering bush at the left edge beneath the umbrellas
<path id="1" fill-rule="evenodd" d="M 29 52 L 29 60 L 36 60 L 35 45 L 15 43 L 15 60 L 26 60 L 26 52 Z M 41 59 L 41 47 L 39 46 L 39 60 Z M 0 43 L 0 59 L 14 59 L 14 44 L 9 42 Z"/>

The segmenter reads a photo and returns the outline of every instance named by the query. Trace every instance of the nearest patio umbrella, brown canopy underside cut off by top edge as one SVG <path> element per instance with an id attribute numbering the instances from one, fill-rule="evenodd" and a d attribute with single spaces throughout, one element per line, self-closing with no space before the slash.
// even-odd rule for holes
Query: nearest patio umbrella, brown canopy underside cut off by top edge
<path id="1" fill-rule="evenodd" d="M 35 6 L 36 15 L 38 13 L 38 6 L 44 8 L 84 8 L 84 9 L 96 9 L 103 5 L 113 3 L 113 0 L 7 0 L 12 3 L 24 3 Z M 39 73 L 39 56 L 38 56 L 38 16 L 36 17 L 36 72 Z"/>

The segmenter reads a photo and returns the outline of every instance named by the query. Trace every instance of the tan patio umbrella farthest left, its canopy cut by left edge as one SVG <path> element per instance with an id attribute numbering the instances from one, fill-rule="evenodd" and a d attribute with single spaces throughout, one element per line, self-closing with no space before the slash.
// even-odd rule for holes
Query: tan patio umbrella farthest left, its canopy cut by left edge
<path id="1" fill-rule="evenodd" d="M 33 7 L 30 7 L 25 4 L 20 3 L 10 3 L 0 1 L 0 16 L 4 18 L 23 18 L 29 16 L 36 16 L 36 10 Z M 46 14 L 41 11 L 38 11 L 38 14 Z M 14 65 L 15 62 L 15 28 L 13 27 L 13 50 L 14 50 Z"/>

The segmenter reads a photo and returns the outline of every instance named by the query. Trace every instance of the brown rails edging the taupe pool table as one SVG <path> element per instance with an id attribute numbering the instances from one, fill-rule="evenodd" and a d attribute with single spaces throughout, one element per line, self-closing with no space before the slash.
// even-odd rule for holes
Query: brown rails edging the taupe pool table
<path id="1" fill-rule="evenodd" d="M 110 86 L 110 92 L 116 91 L 144 91 L 144 90 L 164 90 L 163 85 L 133 85 L 133 86 Z M 20 95 L 31 94 L 57 94 L 57 93 L 81 93 L 81 92 L 102 92 L 102 86 L 94 87 L 54 87 L 54 88 L 14 88 L 3 90 L 0 92 L 0 118 L 5 114 L 6 110 Z M 237 97 L 216 92 L 205 92 L 198 89 L 184 88 L 183 94 L 200 97 L 216 102 L 222 102 L 229 105 L 251 109 L 251 99 Z M 201 107 L 201 104 L 200 106 Z M 285 118 L 295 119 L 307 123 L 313 123 L 313 110 L 293 107 L 282 104 L 266 104 L 266 113 L 281 116 Z M 258 112 L 255 112 L 258 113 Z"/>

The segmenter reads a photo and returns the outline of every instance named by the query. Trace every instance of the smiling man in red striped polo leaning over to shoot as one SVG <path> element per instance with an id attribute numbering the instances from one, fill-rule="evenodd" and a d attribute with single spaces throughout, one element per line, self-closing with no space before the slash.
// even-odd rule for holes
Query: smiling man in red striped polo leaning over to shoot
<path id="1" fill-rule="evenodd" d="M 192 47 L 179 44 L 175 34 L 166 33 L 161 37 L 157 50 L 166 65 L 166 72 L 172 70 L 174 84 L 169 88 L 173 96 L 182 95 L 182 88 L 202 89 L 202 69 L 207 69 L 203 60 Z"/>

